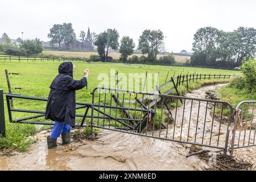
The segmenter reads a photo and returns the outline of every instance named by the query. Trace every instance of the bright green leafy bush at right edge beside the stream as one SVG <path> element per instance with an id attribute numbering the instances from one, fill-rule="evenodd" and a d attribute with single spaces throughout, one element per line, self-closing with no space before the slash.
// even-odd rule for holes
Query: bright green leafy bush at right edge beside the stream
<path id="1" fill-rule="evenodd" d="M 249 92 L 256 91 L 256 60 L 250 58 L 242 64 L 242 73 L 245 76 L 245 86 Z"/>

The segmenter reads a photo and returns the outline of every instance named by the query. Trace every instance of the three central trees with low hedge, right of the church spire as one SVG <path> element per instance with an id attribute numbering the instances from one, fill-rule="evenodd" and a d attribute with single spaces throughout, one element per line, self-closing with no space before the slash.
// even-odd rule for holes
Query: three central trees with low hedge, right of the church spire
<path id="1" fill-rule="evenodd" d="M 119 53 L 121 53 L 119 60 L 121 61 L 163 64 L 175 63 L 172 54 L 160 57 L 160 59 L 156 57 L 164 48 L 164 35 L 161 30 L 144 30 L 142 35 L 139 36 L 138 49 L 141 50 L 142 54 L 146 54 L 147 57 L 133 55 L 128 59 L 128 57 L 134 53 L 135 43 L 129 36 L 123 36 L 119 44 L 118 38 L 118 31 L 110 28 L 96 36 L 94 44 L 97 46 L 98 55 L 100 55 L 101 61 L 107 61 L 109 48 L 112 48 L 115 51 L 119 49 Z"/>

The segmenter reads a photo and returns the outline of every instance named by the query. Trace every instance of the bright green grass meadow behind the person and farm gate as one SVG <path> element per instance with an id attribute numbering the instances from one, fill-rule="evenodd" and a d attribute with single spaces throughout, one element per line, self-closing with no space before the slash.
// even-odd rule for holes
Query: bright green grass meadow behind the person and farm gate
<path id="1" fill-rule="evenodd" d="M 32 97 L 48 97 L 49 85 L 53 78 L 58 74 L 57 69 L 59 67 L 59 61 L 44 62 L 40 60 L 36 61 L 6 61 L 0 62 L 0 88 L 3 88 L 4 92 L 7 92 L 7 83 L 5 78 L 5 69 L 8 69 L 9 73 L 19 73 L 20 75 L 9 75 L 11 87 L 20 87 L 21 90 L 13 90 L 15 94 L 22 94 Z M 92 102 L 92 95 L 90 94 L 94 88 L 96 88 L 101 80 L 97 80 L 97 76 L 100 73 L 110 74 L 110 69 L 115 69 L 118 73 L 158 73 L 159 72 L 159 84 L 163 84 L 166 80 L 167 73 L 169 73 L 168 80 L 174 73 L 187 74 L 187 73 L 207 73 L 207 74 L 230 74 L 240 75 L 238 71 L 228 71 L 221 69 L 208 69 L 208 68 L 191 68 L 191 67 L 170 67 L 161 65 L 142 65 L 142 64 L 118 64 L 118 63 L 84 63 L 77 62 L 76 72 L 74 73 L 75 79 L 80 79 L 83 76 L 85 68 L 90 69 L 88 78 L 88 90 L 81 89 L 76 92 L 76 100 L 80 102 Z M 142 82 L 142 80 L 141 80 Z M 195 89 L 200 84 L 190 84 L 191 89 Z M 196 87 L 195 87 L 196 86 Z M 185 87 L 180 86 L 181 91 L 184 93 Z M 6 104 L 5 104 L 6 107 Z M 46 102 L 42 101 L 29 101 L 14 99 L 14 107 L 18 109 L 31 109 L 31 110 L 45 110 Z M 90 113 L 90 111 L 89 111 Z M 7 125 L 7 138 L 0 138 L 0 149 L 2 148 L 15 148 L 18 150 L 26 150 L 30 143 L 34 140 L 27 140 L 28 135 L 36 133 L 36 127 L 34 125 L 24 124 L 12 124 L 7 122 L 7 109 L 5 108 L 6 125 Z M 84 114 L 84 110 L 78 111 L 77 114 Z M 34 114 L 27 113 L 13 113 L 13 118 L 27 117 Z M 42 118 L 43 119 L 43 118 Z M 79 118 L 80 119 L 80 118 Z"/>

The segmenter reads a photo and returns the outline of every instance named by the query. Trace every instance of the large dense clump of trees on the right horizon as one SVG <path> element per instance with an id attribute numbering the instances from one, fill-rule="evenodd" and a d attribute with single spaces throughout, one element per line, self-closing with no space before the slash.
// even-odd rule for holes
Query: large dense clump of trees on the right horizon
<path id="1" fill-rule="evenodd" d="M 256 30 L 251 27 L 239 27 L 232 32 L 199 28 L 193 39 L 194 52 L 189 62 L 192 65 L 239 67 L 256 52 Z"/>

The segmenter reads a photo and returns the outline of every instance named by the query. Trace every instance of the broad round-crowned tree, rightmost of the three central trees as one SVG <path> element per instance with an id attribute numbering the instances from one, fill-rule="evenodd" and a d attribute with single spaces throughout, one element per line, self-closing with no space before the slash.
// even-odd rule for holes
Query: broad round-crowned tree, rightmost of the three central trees
<path id="1" fill-rule="evenodd" d="M 144 30 L 139 36 L 139 46 L 142 53 L 146 53 L 148 60 L 156 60 L 156 55 L 163 48 L 164 35 L 161 30 Z"/>

